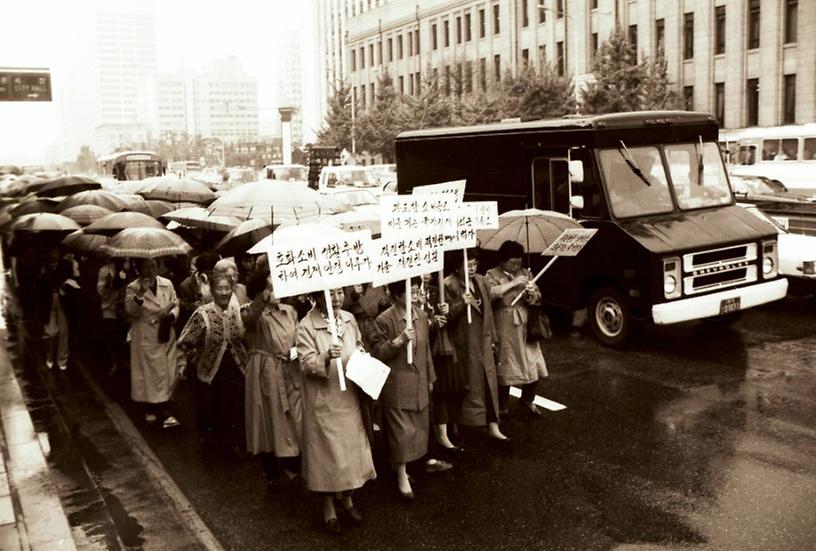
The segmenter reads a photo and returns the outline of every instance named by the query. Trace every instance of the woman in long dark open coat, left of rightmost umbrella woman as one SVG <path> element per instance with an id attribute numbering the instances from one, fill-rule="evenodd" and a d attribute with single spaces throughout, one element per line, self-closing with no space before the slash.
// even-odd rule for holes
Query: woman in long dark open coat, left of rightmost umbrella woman
<path id="1" fill-rule="evenodd" d="M 467 387 L 464 401 L 459 402 L 461 415 L 458 418 L 464 425 L 487 425 L 491 438 L 506 442 L 509 439 L 499 429 L 499 389 L 493 357 L 498 338 L 490 306 L 490 291 L 484 277 L 476 273 L 478 258 L 475 249 L 468 251 L 467 266 L 462 251 L 447 252 L 445 260 L 453 267 L 453 273 L 444 281 L 445 300 L 450 309 L 449 328 Z M 469 290 L 465 284 L 466 269 Z M 470 323 L 467 319 L 468 308 L 471 309 Z M 436 404 L 435 401 L 435 407 Z M 453 417 L 456 413 L 450 399 L 447 408 L 449 420 L 454 422 L 457 417 Z M 436 410 L 435 414 L 438 415 Z"/>

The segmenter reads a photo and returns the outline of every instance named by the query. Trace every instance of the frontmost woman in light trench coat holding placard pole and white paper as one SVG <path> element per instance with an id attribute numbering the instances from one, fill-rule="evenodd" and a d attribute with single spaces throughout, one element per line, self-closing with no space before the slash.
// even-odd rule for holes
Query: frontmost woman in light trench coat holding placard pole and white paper
<path id="1" fill-rule="evenodd" d="M 342 493 L 342 506 L 354 522 L 363 517 L 351 499 L 352 490 L 377 477 L 371 444 L 363 424 L 356 388 L 349 383 L 341 390 L 337 360 L 348 365 L 351 354 L 362 347 L 362 336 L 354 316 L 340 308 L 343 289 L 330 292 L 337 325 L 332 338 L 328 307 L 323 291 L 315 293 L 315 307 L 296 330 L 297 354 L 303 372 L 303 427 L 301 456 L 306 487 L 323 497 L 326 530 L 339 534 L 334 495 Z"/>

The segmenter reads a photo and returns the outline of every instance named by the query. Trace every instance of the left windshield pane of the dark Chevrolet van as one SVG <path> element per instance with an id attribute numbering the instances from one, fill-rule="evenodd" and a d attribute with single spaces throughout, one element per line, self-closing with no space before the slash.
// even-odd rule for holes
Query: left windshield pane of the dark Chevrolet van
<path id="1" fill-rule="evenodd" d="M 660 214 L 674 210 L 666 172 L 655 146 L 600 151 L 612 214 L 618 218 Z"/>

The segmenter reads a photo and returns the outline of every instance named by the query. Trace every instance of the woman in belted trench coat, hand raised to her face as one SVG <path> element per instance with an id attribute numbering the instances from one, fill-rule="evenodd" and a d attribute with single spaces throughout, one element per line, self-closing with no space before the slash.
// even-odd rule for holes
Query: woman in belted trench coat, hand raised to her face
<path id="1" fill-rule="evenodd" d="M 288 480 L 300 471 L 303 377 L 294 348 L 297 312 L 275 298 L 268 276 L 260 272 L 251 277 L 247 292 L 252 302 L 241 307 L 241 316 L 249 346 L 247 450 L 260 456 L 268 487 L 275 489 L 281 470 Z"/>

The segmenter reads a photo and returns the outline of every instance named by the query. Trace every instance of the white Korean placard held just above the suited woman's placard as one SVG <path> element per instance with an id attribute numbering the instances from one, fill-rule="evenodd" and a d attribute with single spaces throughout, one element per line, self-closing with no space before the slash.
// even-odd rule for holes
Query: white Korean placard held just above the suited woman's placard
<path id="1" fill-rule="evenodd" d="M 386 195 L 380 197 L 380 231 L 383 236 L 402 232 L 452 232 L 456 229 L 458 203 L 442 195 Z"/>

